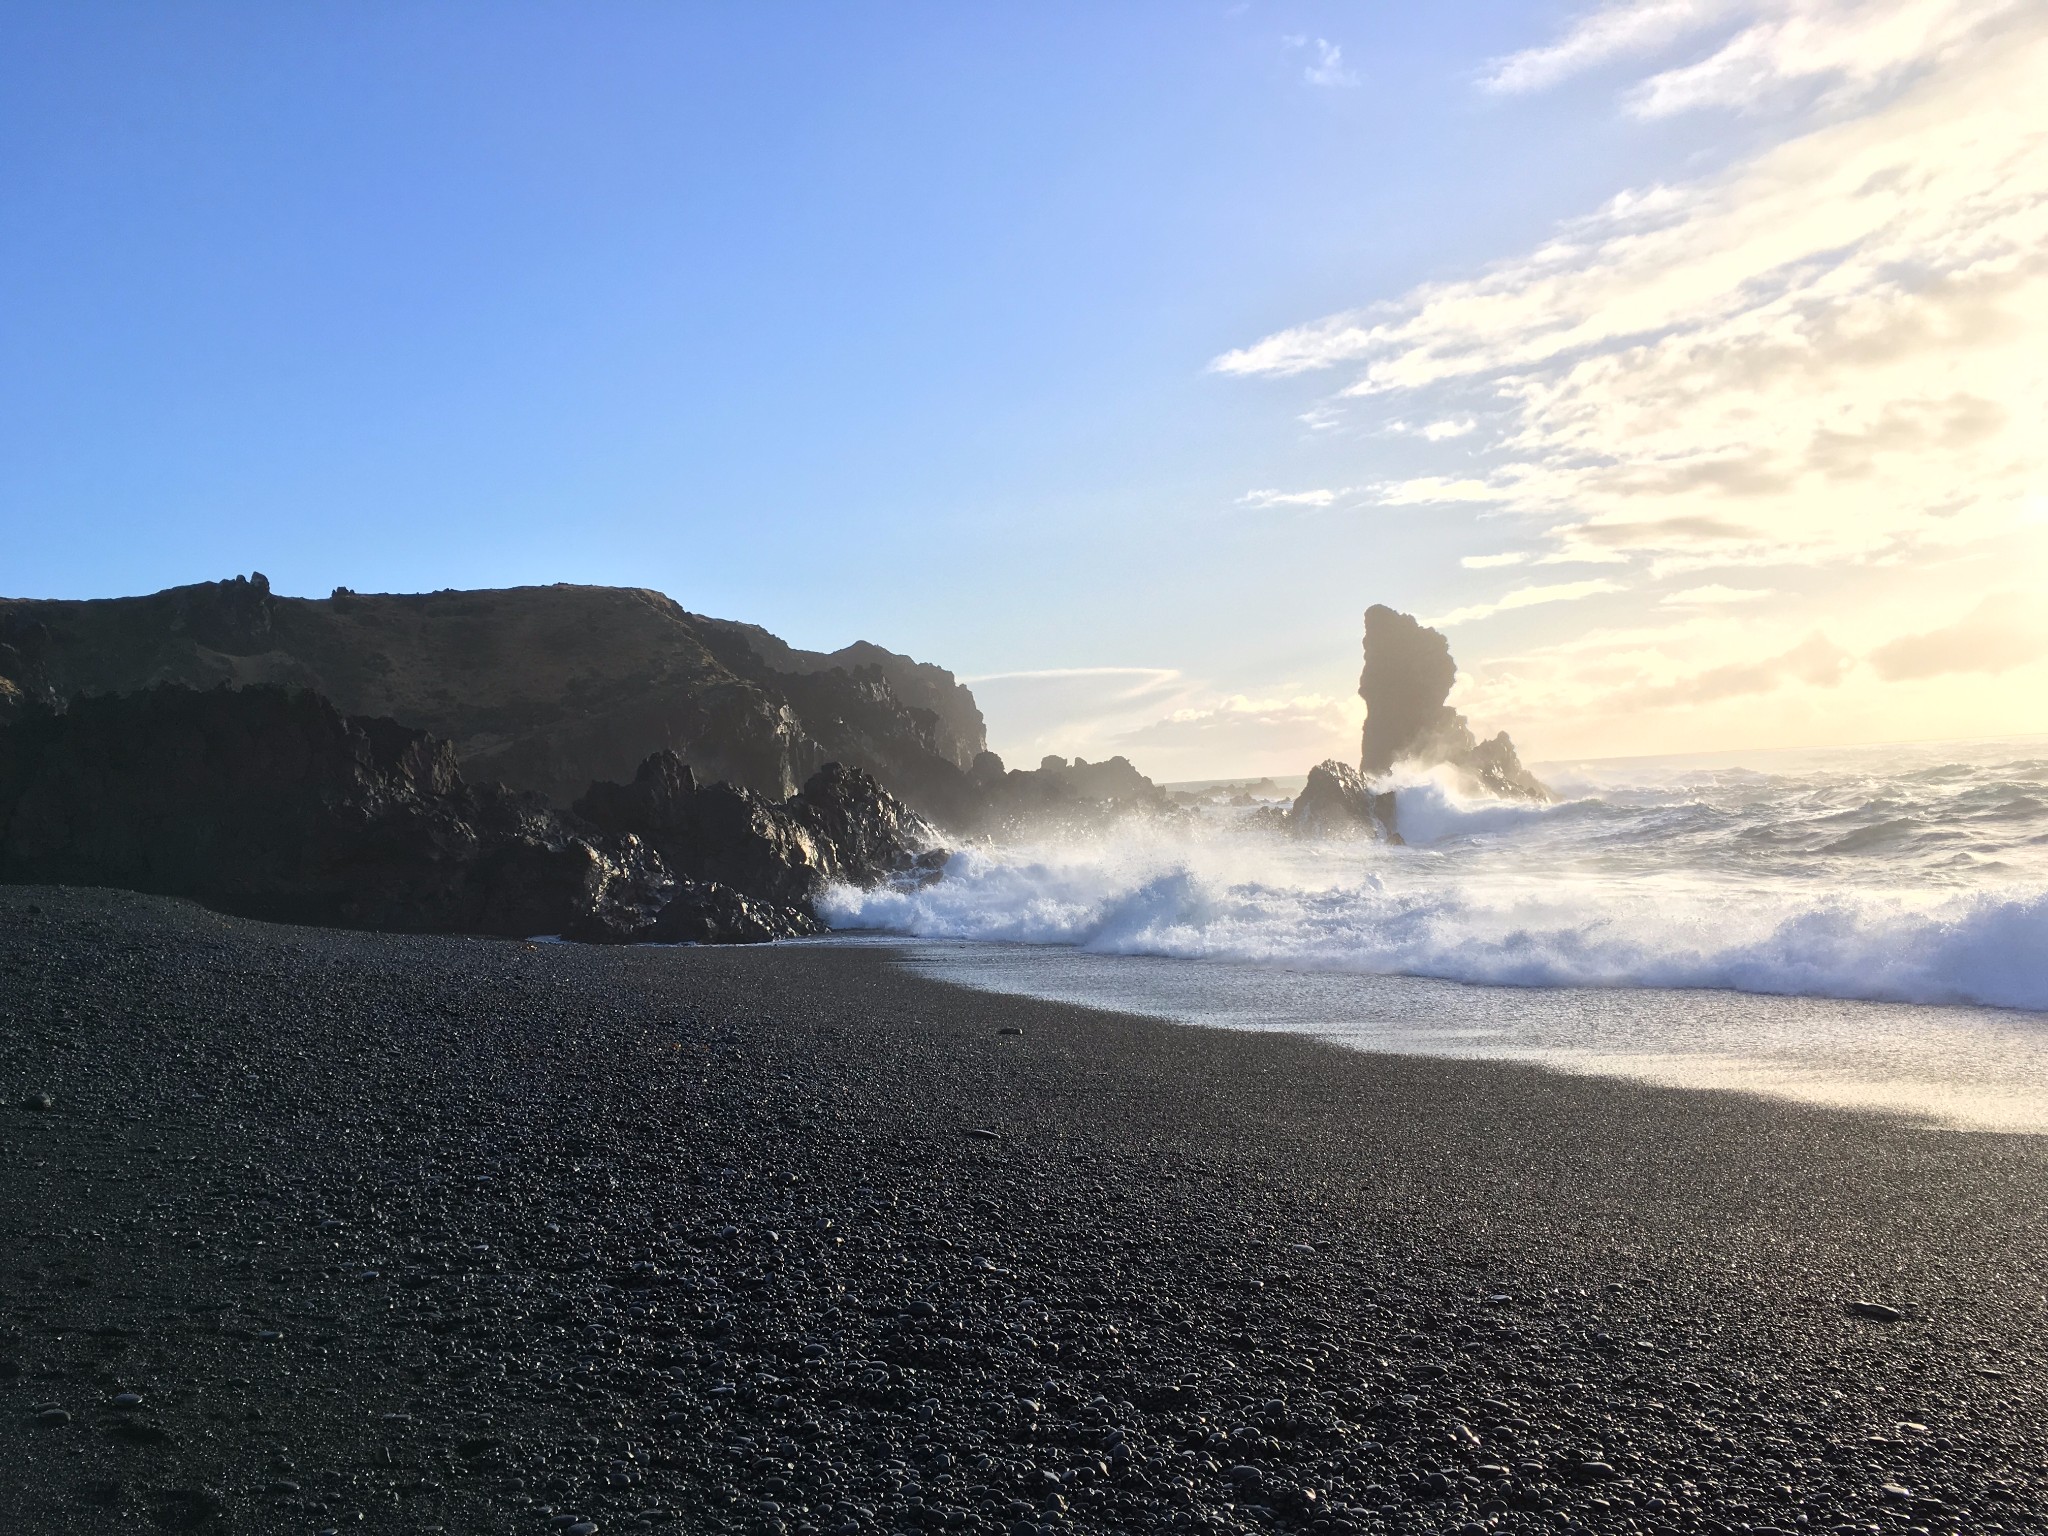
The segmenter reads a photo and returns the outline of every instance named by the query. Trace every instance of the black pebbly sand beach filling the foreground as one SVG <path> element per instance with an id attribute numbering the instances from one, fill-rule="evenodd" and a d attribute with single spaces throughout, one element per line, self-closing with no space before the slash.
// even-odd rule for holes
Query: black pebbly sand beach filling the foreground
<path id="1" fill-rule="evenodd" d="M 6 1532 L 2048 1524 L 2038 1139 L 45 889 L 0 1085 Z"/>

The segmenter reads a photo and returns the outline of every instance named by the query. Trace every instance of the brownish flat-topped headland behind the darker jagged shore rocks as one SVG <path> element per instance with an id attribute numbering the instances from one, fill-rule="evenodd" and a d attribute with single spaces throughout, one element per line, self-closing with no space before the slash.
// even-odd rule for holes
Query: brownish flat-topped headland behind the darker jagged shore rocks
<path id="1" fill-rule="evenodd" d="M 795 651 L 657 592 L 592 586 L 281 598 L 258 573 L 143 598 L 0 600 L 0 719 L 158 682 L 313 688 L 455 745 L 465 774 L 573 801 L 674 752 L 784 799 L 827 762 L 971 823 L 973 694 L 874 645 Z"/>

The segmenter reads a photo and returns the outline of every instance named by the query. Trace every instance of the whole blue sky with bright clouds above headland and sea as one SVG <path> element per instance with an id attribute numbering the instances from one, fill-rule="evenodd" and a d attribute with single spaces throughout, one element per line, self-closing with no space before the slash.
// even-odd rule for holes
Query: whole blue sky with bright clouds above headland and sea
<path id="1" fill-rule="evenodd" d="M 0 12 L 0 594 L 600 582 L 1161 780 L 2048 731 L 2048 6 Z"/>

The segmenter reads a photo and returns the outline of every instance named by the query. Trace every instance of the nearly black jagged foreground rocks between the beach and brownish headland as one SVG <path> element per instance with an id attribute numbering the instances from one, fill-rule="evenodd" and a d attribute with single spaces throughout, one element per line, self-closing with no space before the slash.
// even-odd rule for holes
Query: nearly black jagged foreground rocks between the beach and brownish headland
<path id="1" fill-rule="evenodd" d="M 287 922 L 754 942 L 821 932 L 809 903 L 827 879 L 915 870 L 928 844 L 840 764 L 774 805 L 698 788 L 657 754 L 584 803 L 578 821 L 465 782 L 446 741 L 307 690 L 166 684 L 0 725 L 0 881 L 119 885 Z"/>

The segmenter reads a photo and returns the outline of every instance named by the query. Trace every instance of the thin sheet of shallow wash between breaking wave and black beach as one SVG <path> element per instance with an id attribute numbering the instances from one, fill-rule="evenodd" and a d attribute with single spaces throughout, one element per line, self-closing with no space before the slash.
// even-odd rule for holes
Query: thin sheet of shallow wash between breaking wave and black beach
<path id="1" fill-rule="evenodd" d="M 1546 987 L 1219 956 L 840 934 L 920 975 L 1352 1051 L 1759 1094 L 1933 1128 L 2048 1133 L 2048 1012 L 1729 987 Z"/>

